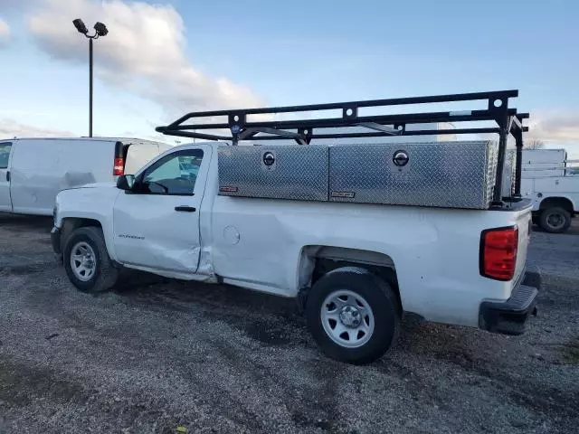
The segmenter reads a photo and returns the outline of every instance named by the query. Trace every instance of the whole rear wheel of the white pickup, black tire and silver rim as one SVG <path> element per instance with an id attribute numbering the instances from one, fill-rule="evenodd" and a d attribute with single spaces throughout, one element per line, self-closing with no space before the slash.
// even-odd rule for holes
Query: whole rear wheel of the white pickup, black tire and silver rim
<path id="1" fill-rule="evenodd" d="M 394 344 L 400 311 L 394 290 L 366 269 L 335 269 L 308 293 L 308 327 L 327 355 L 371 363 Z"/>

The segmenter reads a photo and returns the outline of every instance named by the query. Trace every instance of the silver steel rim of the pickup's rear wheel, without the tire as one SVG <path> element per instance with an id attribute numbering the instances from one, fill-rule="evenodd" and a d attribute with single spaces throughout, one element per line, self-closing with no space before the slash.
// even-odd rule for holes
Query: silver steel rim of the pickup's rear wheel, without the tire
<path id="1" fill-rule="evenodd" d="M 327 336 L 345 348 L 366 344 L 374 333 L 374 313 L 364 297 L 349 289 L 330 293 L 320 309 Z"/>

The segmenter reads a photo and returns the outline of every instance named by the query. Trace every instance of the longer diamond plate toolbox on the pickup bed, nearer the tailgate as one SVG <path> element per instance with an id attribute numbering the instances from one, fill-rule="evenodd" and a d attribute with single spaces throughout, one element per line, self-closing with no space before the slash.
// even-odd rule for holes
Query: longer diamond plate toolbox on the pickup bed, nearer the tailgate
<path id="1" fill-rule="evenodd" d="M 497 160 L 489 141 L 332 146 L 329 200 L 487 209 Z"/>

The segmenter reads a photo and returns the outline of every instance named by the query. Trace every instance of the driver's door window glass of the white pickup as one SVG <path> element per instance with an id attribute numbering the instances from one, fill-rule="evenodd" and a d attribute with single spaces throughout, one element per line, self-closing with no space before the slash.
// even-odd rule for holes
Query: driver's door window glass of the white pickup
<path id="1" fill-rule="evenodd" d="M 202 160 L 201 149 L 178 151 L 161 158 L 143 173 L 140 193 L 193 194 Z"/>

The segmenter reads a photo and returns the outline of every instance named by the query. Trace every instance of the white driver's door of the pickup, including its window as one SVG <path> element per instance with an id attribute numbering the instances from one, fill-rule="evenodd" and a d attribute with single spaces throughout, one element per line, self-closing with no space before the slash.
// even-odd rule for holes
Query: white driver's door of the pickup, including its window
<path id="1" fill-rule="evenodd" d="M 113 216 L 119 262 L 195 273 L 211 153 L 201 145 L 163 156 L 137 176 L 134 192 L 119 194 Z"/>

